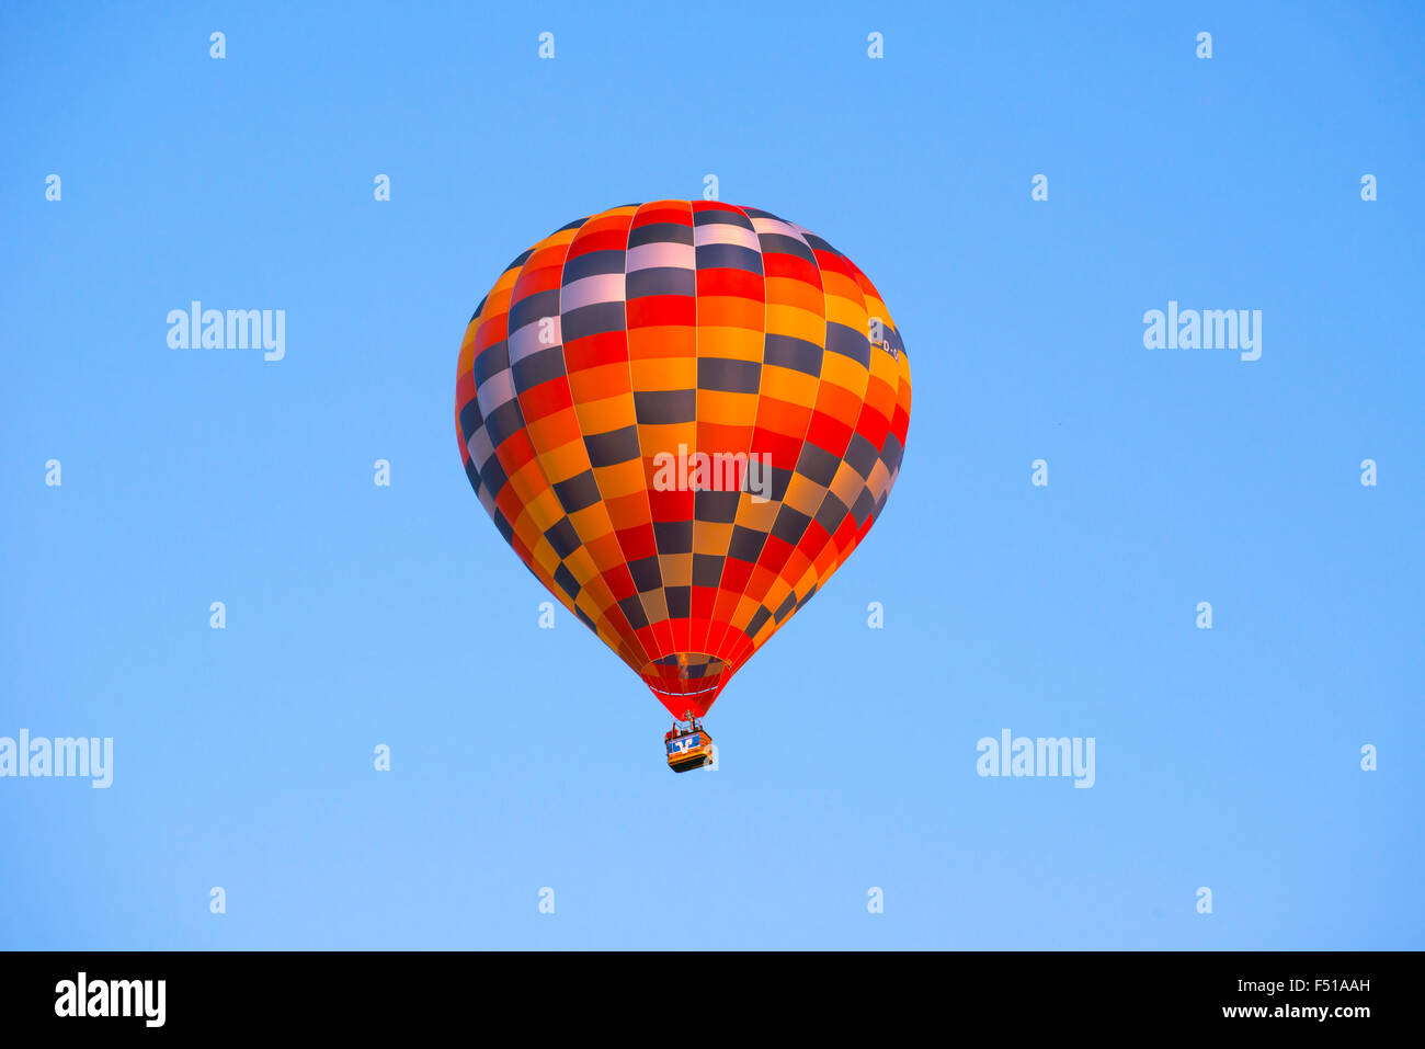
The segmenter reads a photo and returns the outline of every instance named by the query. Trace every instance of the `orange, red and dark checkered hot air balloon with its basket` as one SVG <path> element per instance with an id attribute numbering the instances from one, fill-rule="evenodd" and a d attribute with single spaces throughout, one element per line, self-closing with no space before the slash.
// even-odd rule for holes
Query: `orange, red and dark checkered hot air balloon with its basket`
<path id="1" fill-rule="evenodd" d="M 911 368 L 875 286 L 815 234 L 656 201 L 506 267 L 455 413 L 494 527 L 673 714 L 684 771 L 727 683 L 881 516 Z"/>

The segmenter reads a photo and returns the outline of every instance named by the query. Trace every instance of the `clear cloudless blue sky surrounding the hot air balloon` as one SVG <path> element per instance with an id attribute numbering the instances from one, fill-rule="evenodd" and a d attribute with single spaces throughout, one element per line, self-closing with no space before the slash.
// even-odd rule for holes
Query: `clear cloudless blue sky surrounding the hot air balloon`
<path id="1" fill-rule="evenodd" d="M 0 780 L 0 946 L 1425 946 L 1418 4 L 335 10 L 0 11 L 0 735 L 114 740 Z M 708 174 L 915 405 L 675 777 L 452 406 L 516 254 Z M 194 299 L 285 358 L 170 348 Z M 978 775 L 1005 728 L 1094 785 Z"/>

